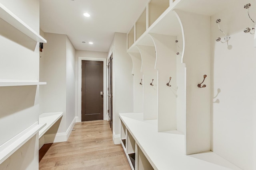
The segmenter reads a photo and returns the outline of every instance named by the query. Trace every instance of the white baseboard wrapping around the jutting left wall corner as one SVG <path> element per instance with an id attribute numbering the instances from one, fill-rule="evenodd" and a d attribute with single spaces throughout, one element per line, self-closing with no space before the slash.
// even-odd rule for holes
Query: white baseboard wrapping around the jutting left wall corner
<path id="1" fill-rule="evenodd" d="M 76 123 L 76 117 L 73 119 L 72 123 L 70 124 L 66 132 L 44 135 L 44 143 L 47 144 L 47 143 L 56 143 L 56 142 L 66 142 L 72 132 L 72 129 L 74 128 L 75 123 Z"/>

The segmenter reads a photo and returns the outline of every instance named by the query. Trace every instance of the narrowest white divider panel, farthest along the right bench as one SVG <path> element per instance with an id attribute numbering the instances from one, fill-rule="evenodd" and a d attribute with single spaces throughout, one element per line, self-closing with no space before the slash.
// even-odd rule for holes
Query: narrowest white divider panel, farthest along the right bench
<path id="1" fill-rule="evenodd" d="M 134 82 L 134 98 L 133 98 L 133 112 L 143 112 L 143 82 L 140 85 L 143 77 L 141 72 L 141 56 L 140 53 L 128 53 L 132 58 L 132 74 Z"/>

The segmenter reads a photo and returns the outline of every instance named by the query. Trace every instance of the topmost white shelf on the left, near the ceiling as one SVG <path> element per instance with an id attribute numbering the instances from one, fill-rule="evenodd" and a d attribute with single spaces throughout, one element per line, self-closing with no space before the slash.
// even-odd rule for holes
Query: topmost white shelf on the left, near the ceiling
<path id="1" fill-rule="evenodd" d="M 20 20 L 15 14 L 13 14 L 8 8 L 0 3 L 0 18 L 8 22 L 10 25 L 26 34 L 28 37 L 36 42 L 46 43 L 47 41 L 41 37 L 36 31 L 28 26 L 24 21 Z"/>

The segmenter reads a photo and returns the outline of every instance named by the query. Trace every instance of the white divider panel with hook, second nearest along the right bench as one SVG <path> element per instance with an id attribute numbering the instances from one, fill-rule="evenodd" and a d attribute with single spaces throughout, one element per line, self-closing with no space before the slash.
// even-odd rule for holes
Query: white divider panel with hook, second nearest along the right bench
<path id="1" fill-rule="evenodd" d="M 156 47 L 158 70 L 158 132 L 176 130 L 176 36 L 150 35 Z M 171 87 L 166 85 L 170 77 Z"/>

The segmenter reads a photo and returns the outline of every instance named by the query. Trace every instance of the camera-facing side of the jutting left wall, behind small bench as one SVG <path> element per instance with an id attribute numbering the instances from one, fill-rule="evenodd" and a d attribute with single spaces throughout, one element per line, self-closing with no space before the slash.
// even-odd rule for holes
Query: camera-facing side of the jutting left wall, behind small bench
<path id="1" fill-rule="evenodd" d="M 66 132 L 66 35 L 44 33 L 44 55 L 40 58 L 40 114 L 63 111 L 58 133 Z M 51 128 L 46 134 L 56 133 Z"/>

